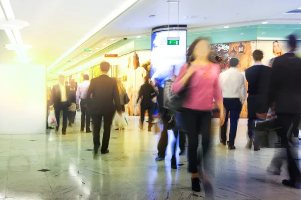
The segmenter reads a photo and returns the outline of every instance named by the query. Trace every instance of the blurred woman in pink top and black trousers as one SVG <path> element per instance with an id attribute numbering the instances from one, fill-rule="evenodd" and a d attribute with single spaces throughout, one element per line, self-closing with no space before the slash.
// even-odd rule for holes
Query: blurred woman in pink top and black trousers
<path id="1" fill-rule="evenodd" d="M 220 109 L 220 126 L 224 124 L 225 112 L 222 90 L 219 84 L 220 67 L 209 61 L 210 43 L 206 39 L 196 39 L 187 51 L 187 63 L 182 67 L 179 76 L 173 84 L 173 91 L 179 93 L 185 85 L 182 113 L 183 126 L 188 135 L 189 172 L 194 191 L 201 191 L 197 171 L 199 145 L 198 134 L 202 134 L 203 157 L 208 152 L 211 138 L 211 111 L 213 98 Z M 204 159 L 204 166 L 206 167 Z M 209 178 L 205 178 L 210 182 Z"/>

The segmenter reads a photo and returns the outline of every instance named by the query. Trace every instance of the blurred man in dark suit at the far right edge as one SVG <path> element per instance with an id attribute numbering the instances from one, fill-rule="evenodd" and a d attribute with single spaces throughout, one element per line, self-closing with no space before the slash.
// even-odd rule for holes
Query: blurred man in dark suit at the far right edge
<path id="1" fill-rule="evenodd" d="M 286 148 L 289 180 L 282 180 L 287 186 L 297 186 L 301 183 L 301 173 L 293 157 L 293 148 L 288 143 L 287 133 L 295 119 L 301 115 L 301 59 L 296 57 L 296 38 L 288 37 L 290 51 L 274 59 L 271 68 L 271 78 L 268 89 L 268 102 L 274 107 L 278 118 L 277 135 L 281 147 Z M 261 115 L 261 118 L 266 114 Z M 289 135 L 291 135 L 289 133 Z M 297 154 L 296 154 L 297 155 Z M 281 164 L 278 165 L 281 167 Z M 277 167 L 277 166 L 275 166 Z M 280 171 L 280 168 L 277 169 Z"/>

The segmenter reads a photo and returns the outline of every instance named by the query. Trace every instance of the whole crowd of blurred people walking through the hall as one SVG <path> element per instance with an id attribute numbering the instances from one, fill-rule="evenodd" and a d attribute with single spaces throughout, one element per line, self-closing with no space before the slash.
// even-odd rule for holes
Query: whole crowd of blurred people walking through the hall
<path id="1" fill-rule="evenodd" d="M 273 59 L 271 66 L 262 64 L 263 52 L 255 50 L 252 54 L 254 65 L 239 72 L 238 58 L 229 60 L 229 69 L 220 73 L 220 66 L 211 59 L 211 45 L 206 38 L 196 39 L 187 50 L 187 62 L 178 76 L 173 71 L 173 78 L 162 87 L 159 79 L 154 82 L 145 77 L 141 85 L 136 104 L 140 105 L 139 128 L 143 129 L 145 112 L 148 113 L 148 131 L 154 124 L 162 124 L 156 161 L 165 160 L 168 146 L 168 130 L 179 140 L 180 156 L 188 158 L 188 171 L 191 173 L 192 190 L 201 190 L 210 185 L 208 155 L 212 142 L 212 108 L 219 109 L 220 142 L 235 150 L 235 137 L 242 105 L 247 101 L 248 141 L 246 148 L 259 151 L 263 146 L 260 138 L 264 134 L 274 134 L 279 140 L 279 148 L 271 158 L 267 171 L 276 175 L 281 173 L 284 160 L 288 163 L 289 179 L 282 181 L 287 186 L 298 186 L 301 174 L 296 163 L 294 137 L 298 137 L 298 125 L 301 115 L 301 59 L 295 56 L 296 39 L 288 37 L 290 51 Z M 59 84 L 48 89 L 48 105 L 53 105 L 59 131 L 60 113 L 63 113 L 62 134 L 66 134 L 67 119 L 69 126 L 74 123 L 76 109 L 81 108 L 81 131 L 90 130 L 93 122 L 94 153 L 101 146 L 101 153 L 108 153 L 111 125 L 114 115 L 119 122 L 116 130 L 125 126 L 123 119 L 125 105 L 129 98 L 120 80 L 107 76 L 110 64 L 100 64 L 101 75 L 89 81 L 84 75 L 84 82 L 65 83 L 65 77 L 59 76 Z M 248 86 L 246 88 L 246 81 Z M 115 114 L 117 112 L 117 114 Z M 228 121 L 230 130 L 227 138 Z M 102 144 L 100 127 L 103 122 Z M 154 131 L 154 130 L 153 130 Z M 158 131 L 158 130 L 156 130 Z M 201 144 L 199 144 L 201 135 Z M 188 140 L 186 140 L 188 139 Z M 186 143 L 188 148 L 186 149 Z M 173 143 L 171 168 L 177 169 L 177 142 Z M 202 155 L 198 148 L 201 146 Z M 276 149 L 276 148 L 275 148 Z M 281 152 L 281 158 L 280 153 Z M 284 158 L 283 158 L 284 152 Z M 204 169 L 202 169 L 204 166 Z"/>

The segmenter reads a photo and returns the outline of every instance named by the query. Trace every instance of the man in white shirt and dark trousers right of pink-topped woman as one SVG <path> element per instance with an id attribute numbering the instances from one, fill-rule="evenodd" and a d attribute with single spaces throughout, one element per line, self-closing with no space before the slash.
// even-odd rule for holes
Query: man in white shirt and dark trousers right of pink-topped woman
<path id="1" fill-rule="evenodd" d="M 236 137 L 237 124 L 242 105 L 246 99 L 246 83 L 242 73 L 237 70 L 239 60 L 232 58 L 230 60 L 230 68 L 220 74 L 220 82 L 224 97 L 224 106 L 226 108 L 226 119 L 221 126 L 221 143 L 226 145 L 227 140 L 227 123 L 230 113 L 230 133 L 228 148 L 235 149 L 234 140 Z"/>

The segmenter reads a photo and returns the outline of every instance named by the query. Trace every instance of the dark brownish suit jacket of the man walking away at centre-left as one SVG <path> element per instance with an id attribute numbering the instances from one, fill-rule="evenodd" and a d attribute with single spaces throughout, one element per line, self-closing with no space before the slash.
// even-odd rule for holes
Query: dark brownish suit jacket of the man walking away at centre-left
<path id="1" fill-rule="evenodd" d="M 91 80 L 87 96 L 92 94 L 88 109 L 92 115 L 113 114 L 121 111 L 117 80 L 102 74 Z"/>

